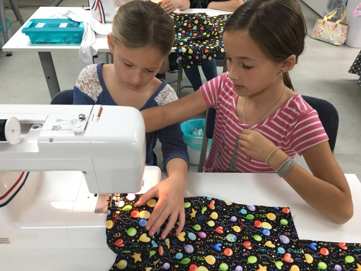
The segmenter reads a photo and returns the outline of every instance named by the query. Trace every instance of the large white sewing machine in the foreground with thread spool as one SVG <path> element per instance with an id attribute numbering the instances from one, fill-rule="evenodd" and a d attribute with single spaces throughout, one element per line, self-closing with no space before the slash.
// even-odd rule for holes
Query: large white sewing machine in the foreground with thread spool
<path id="1" fill-rule="evenodd" d="M 25 248 L 110 251 L 106 211 L 108 204 L 122 206 L 111 193 L 144 193 L 161 177 L 158 167 L 144 167 L 141 113 L 120 106 L 0 105 L 0 120 L 9 119 L 0 134 L 10 142 L 0 141 L 0 258 L 1 250 Z"/>

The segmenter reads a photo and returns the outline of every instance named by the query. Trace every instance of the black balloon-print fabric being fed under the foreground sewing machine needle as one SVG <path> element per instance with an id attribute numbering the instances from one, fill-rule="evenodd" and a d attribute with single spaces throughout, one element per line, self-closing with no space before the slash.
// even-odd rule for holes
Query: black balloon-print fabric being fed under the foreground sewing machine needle
<path id="1" fill-rule="evenodd" d="M 162 240 L 166 224 L 153 237 L 145 230 L 157 199 L 136 207 L 138 199 L 121 194 L 122 207 L 108 209 L 107 244 L 117 254 L 111 270 L 306 270 L 289 208 L 185 198 L 182 233 L 174 227 Z"/>

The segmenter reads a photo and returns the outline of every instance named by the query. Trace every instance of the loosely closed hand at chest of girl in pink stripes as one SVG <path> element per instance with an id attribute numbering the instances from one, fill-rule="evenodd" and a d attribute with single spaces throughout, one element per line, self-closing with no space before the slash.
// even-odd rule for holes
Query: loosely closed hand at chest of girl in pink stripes
<path id="1" fill-rule="evenodd" d="M 239 149 L 257 160 L 266 161 L 276 145 L 256 130 L 244 129 L 238 137 Z"/>

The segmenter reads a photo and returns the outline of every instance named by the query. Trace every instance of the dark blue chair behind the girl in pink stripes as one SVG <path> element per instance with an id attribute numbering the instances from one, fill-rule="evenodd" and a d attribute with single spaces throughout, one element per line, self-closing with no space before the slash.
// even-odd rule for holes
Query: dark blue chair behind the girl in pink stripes
<path id="1" fill-rule="evenodd" d="M 338 125 L 339 125 L 339 116 L 336 108 L 326 100 L 322 100 L 310 96 L 302 96 L 302 97 L 312 108 L 314 108 L 317 111 L 319 119 L 323 125 L 323 128 L 325 128 L 326 134 L 327 136 L 329 136 L 329 144 L 331 151 L 333 153 L 335 150 Z M 203 167 L 206 160 L 208 139 L 213 138 L 215 120 L 216 120 L 216 109 L 209 108 L 206 115 L 205 133 L 203 134 L 201 154 L 198 164 L 198 172 L 203 172 Z"/>

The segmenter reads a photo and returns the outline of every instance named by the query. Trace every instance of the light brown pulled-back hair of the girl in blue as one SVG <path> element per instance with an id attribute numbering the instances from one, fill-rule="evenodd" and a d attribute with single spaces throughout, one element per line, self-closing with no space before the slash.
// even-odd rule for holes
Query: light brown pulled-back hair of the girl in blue
<path id="1" fill-rule="evenodd" d="M 122 5 L 113 19 L 114 41 L 127 48 L 154 46 L 169 55 L 174 43 L 174 23 L 168 13 L 151 1 L 133 0 Z"/>

